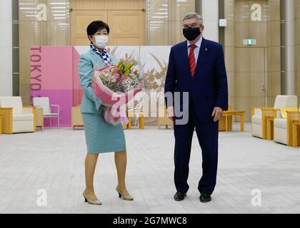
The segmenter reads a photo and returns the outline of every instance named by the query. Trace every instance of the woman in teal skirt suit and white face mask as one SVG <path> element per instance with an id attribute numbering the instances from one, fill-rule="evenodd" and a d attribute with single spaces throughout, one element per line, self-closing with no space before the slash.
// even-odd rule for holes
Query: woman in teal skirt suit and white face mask
<path id="1" fill-rule="evenodd" d="M 117 64 L 116 58 L 106 52 L 109 41 L 109 26 L 103 21 L 93 21 L 87 27 L 87 35 L 91 49 L 80 56 L 79 74 L 84 96 L 81 102 L 81 113 L 84 120 L 86 147 L 88 153 L 85 160 L 86 190 L 85 202 L 101 205 L 94 192 L 94 172 L 99 154 L 115 152 L 118 185 L 116 192 L 125 200 L 133 200 L 125 185 L 126 175 L 126 142 L 122 125 L 110 125 L 104 120 L 104 105 L 91 86 L 95 68 L 103 68 L 109 64 Z"/>

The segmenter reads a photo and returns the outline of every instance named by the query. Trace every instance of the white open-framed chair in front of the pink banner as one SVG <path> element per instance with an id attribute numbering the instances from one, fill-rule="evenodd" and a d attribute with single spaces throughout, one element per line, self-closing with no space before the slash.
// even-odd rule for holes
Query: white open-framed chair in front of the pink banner
<path id="1" fill-rule="evenodd" d="M 44 118 L 50 118 L 50 128 L 52 127 L 52 118 L 57 118 L 57 126 L 59 128 L 59 105 L 50 105 L 49 98 L 34 98 L 34 106 L 43 108 Z M 51 112 L 52 107 L 57 108 L 56 113 Z"/>

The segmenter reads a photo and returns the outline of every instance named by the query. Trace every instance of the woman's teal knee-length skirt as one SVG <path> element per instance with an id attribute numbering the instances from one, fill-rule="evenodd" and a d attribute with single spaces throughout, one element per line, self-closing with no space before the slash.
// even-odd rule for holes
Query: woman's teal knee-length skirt
<path id="1" fill-rule="evenodd" d="M 87 152 L 101 154 L 126 150 L 123 126 L 106 123 L 102 115 L 82 113 Z"/>

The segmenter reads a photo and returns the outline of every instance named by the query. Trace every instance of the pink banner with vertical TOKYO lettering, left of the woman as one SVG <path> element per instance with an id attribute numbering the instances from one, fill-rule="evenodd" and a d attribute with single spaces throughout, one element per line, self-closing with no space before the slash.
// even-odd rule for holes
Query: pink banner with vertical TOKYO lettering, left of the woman
<path id="1" fill-rule="evenodd" d="M 71 107 L 79 105 L 81 100 L 78 56 L 72 46 L 31 47 L 31 98 L 49 97 L 51 105 L 59 105 L 62 127 L 71 126 Z M 49 120 L 44 124 L 49 126 Z M 52 119 L 52 125 L 57 125 L 56 118 Z"/>

